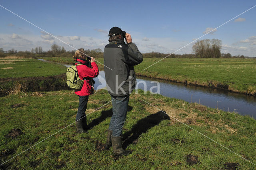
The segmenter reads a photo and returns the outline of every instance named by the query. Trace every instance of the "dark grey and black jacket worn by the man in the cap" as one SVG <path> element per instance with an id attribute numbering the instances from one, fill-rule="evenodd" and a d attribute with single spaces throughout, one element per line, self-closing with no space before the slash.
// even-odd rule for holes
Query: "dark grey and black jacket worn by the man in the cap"
<path id="1" fill-rule="evenodd" d="M 134 67 L 143 60 L 134 43 L 110 42 L 104 48 L 104 71 L 111 96 L 126 96 L 136 86 Z M 112 70 L 111 70 L 112 69 Z"/>

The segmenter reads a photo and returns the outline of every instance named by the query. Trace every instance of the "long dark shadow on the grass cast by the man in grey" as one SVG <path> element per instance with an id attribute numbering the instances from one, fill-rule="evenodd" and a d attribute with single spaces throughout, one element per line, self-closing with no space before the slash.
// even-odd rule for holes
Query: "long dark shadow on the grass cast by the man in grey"
<path id="1" fill-rule="evenodd" d="M 142 133 L 146 133 L 148 129 L 158 125 L 162 120 L 170 120 L 169 116 L 164 113 L 165 111 L 162 111 L 150 114 L 146 118 L 138 120 L 129 132 L 123 134 L 123 148 L 127 148 L 129 144 L 136 144 Z"/>

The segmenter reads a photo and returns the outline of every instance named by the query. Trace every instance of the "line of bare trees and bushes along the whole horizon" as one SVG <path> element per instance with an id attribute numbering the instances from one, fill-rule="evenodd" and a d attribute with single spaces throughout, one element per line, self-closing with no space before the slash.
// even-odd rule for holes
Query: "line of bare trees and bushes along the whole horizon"
<path id="1" fill-rule="evenodd" d="M 147 52 L 143 53 L 144 58 L 164 58 L 168 56 L 169 58 L 245 58 L 244 55 L 232 56 L 230 53 L 224 54 L 220 52 L 222 48 L 222 41 L 218 39 L 205 39 L 198 40 L 192 46 L 193 54 L 164 54 L 160 52 Z M 58 46 L 53 44 L 51 50 L 44 51 L 41 46 L 32 48 L 31 51 L 17 51 L 13 48 L 8 51 L 4 51 L 0 48 L 0 57 L 5 56 L 22 56 L 24 58 L 37 58 L 37 57 L 71 57 L 75 53 L 75 50 L 66 51 L 64 46 Z M 103 52 L 100 48 L 93 50 L 85 50 L 85 54 L 92 56 L 94 58 L 102 58 Z"/>

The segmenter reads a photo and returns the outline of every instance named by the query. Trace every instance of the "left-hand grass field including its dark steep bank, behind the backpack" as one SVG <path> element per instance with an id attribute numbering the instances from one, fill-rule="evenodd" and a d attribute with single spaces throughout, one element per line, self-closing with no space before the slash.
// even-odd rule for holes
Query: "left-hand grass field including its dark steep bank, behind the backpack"
<path id="1" fill-rule="evenodd" d="M 36 59 L 0 59 L 0 96 L 67 89 L 66 69 Z"/>

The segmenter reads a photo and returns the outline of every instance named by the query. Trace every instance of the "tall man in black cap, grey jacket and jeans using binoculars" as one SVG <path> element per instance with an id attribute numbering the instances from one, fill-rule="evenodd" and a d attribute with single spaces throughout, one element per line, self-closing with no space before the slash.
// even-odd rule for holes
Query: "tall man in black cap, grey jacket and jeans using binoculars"
<path id="1" fill-rule="evenodd" d="M 130 34 L 121 28 L 109 31 L 109 44 L 104 49 L 104 71 L 109 94 L 112 97 L 113 115 L 110 120 L 106 149 L 111 144 L 115 155 L 128 155 L 122 148 L 122 128 L 126 120 L 129 96 L 136 86 L 134 67 L 143 60 Z M 126 39 L 126 43 L 124 42 Z"/>

